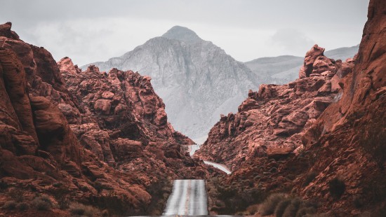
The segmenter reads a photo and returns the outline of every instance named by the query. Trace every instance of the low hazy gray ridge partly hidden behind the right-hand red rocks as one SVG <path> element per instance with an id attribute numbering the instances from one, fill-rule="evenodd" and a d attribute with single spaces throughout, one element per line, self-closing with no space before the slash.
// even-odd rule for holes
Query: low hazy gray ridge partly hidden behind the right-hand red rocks
<path id="1" fill-rule="evenodd" d="M 359 45 L 350 48 L 338 48 L 324 52 L 324 55 L 332 59 L 345 59 L 357 54 Z M 299 69 L 304 57 L 279 56 L 262 57 L 244 62 L 256 76 L 260 76 L 260 83 L 284 84 L 298 78 Z"/>

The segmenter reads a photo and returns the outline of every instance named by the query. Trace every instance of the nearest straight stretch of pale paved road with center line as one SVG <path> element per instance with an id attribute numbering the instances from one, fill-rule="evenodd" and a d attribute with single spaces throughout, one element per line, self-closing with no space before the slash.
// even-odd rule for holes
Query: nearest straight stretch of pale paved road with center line
<path id="1" fill-rule="evenodd" d="M 203 179 L 175 180 L 163 215 L 208 215 L 207 200 L 205 181 Z"/>

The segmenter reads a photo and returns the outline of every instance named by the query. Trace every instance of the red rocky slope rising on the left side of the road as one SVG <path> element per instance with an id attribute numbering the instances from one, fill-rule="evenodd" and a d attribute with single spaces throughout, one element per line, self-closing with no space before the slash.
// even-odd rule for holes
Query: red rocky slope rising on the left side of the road
<path id="1" fill-rule="evenodd" d="M 192 141 L 168 123 L 149 77 L 81 71 L 69 58 L 58 64 L 11 23 L 0 25 L 0 206 L 29 206 L 1 214 L 66 216 L 76 201 L 110 214 L 157 214 L 168 179 L 206 174 L 181 151 Z M 36 195 L 54 209 L 36 211 Z"/>

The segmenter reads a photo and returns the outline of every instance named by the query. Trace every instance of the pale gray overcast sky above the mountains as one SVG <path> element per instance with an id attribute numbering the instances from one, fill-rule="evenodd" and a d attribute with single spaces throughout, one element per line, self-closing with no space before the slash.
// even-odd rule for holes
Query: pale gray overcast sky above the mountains
<path id="1" fill-rule="evenodd" d="M 235 59 L 304 56 L 360 43 L 368 0 L 0 0 L 27 43 L 75 64 L 123 55 L 175 25 L 188 27 Z"/>

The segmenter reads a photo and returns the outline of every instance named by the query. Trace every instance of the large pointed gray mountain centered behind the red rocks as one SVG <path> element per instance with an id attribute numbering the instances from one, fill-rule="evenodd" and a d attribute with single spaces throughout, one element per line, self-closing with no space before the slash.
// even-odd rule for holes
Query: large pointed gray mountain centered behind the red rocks
<path id="1" fill-rule="evenodd" d="M 258 88 L 258 76 L 247 66 L 186 27 L 175 26 L 121 57 L 92 64 L 101 71 L 131 69 L 150 76 L 168 120 L 197 142 L 221 113 L 237 111 L 248 90 Z"/>

